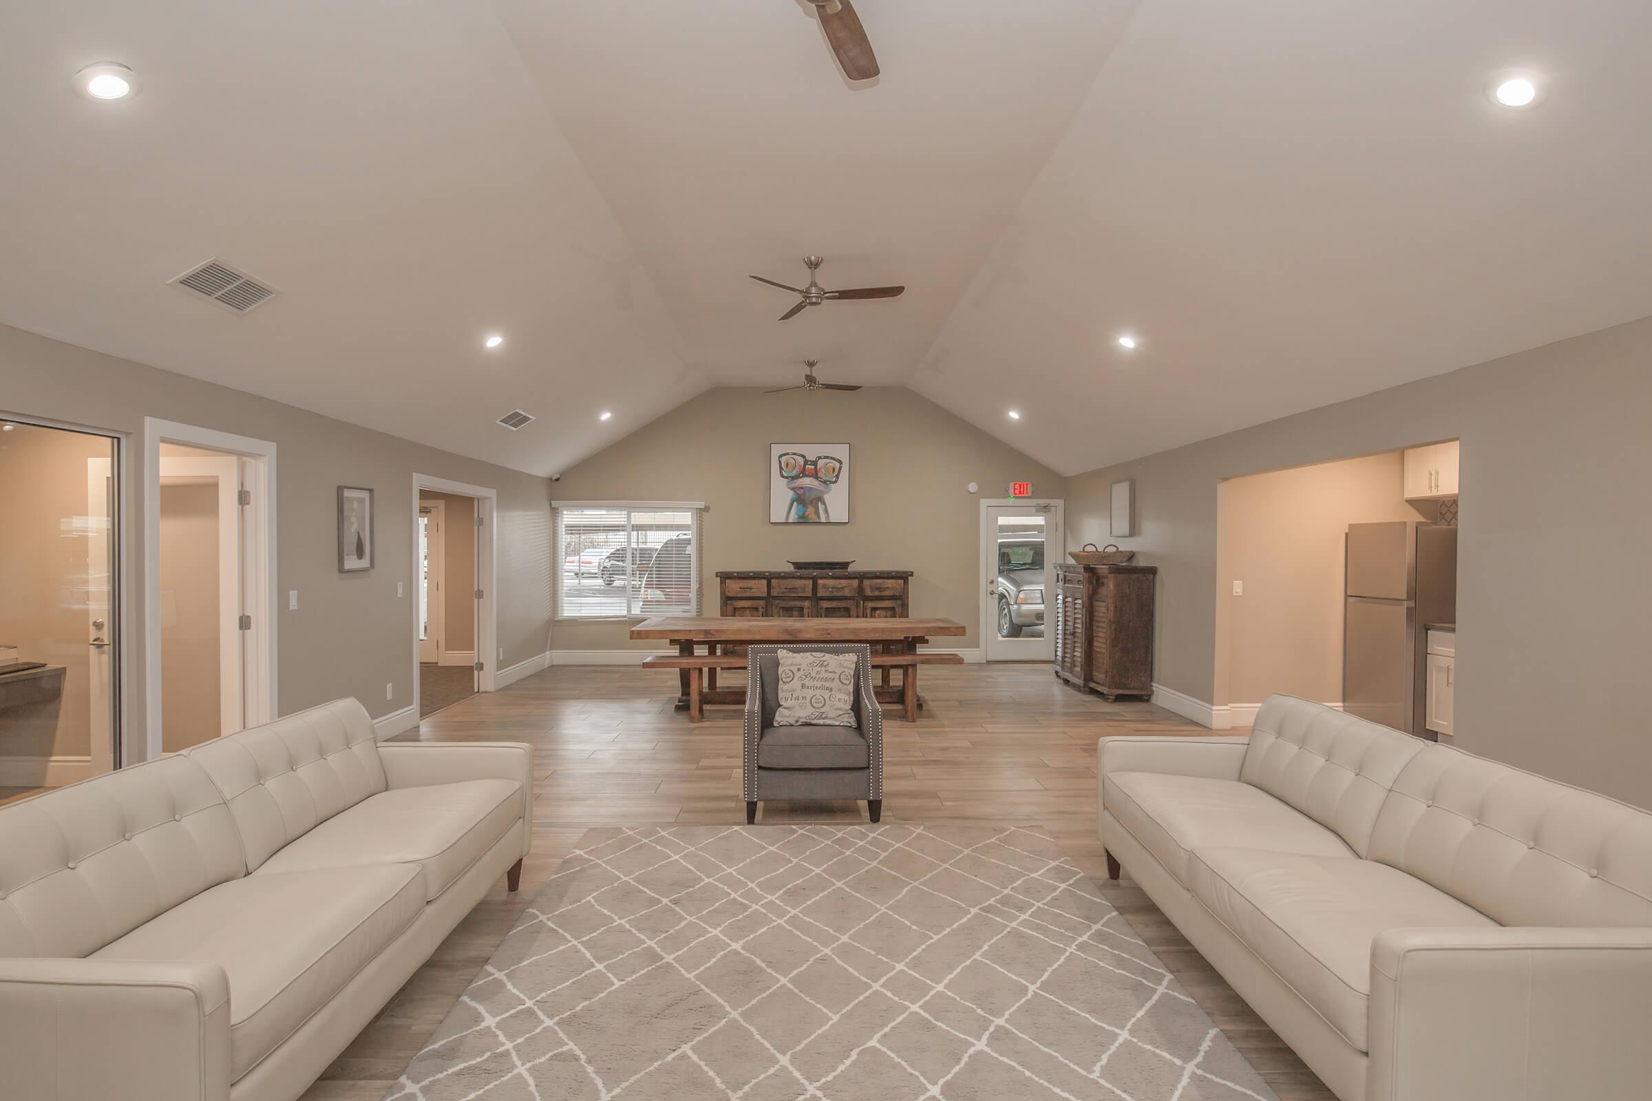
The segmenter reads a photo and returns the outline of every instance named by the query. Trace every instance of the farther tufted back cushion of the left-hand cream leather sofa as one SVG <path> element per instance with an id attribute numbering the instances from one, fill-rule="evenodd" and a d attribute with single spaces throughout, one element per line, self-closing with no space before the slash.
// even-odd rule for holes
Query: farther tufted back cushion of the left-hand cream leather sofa
<path id="1" fill-rule="evenodd" d="M 256 872 L 282 845 L 385 789 L 373 720 L 334 700 L 188 749 L 230 802 Z"/>

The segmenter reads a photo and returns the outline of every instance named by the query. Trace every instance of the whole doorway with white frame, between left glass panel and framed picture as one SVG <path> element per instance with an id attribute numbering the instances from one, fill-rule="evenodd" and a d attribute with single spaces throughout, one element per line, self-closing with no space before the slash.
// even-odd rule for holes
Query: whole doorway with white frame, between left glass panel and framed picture
<path id="1" fill-rule="evenodd" d="M 274 444 L 145 419 L 149 759 L 276 716 Z"/>

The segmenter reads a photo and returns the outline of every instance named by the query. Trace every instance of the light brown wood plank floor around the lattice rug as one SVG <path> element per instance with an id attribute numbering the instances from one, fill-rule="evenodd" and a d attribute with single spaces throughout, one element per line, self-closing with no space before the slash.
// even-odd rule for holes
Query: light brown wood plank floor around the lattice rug
<path id="1" fill-rule="evenodd" d="M 1127 878 L 1107 881 L 1095 839 L 1100 735 L 1208 733 L 1148 703 L 1107 703 L 1061 685 L 1049 665 L 923 670 L 917 725 L 885 721 L 885 822 L 1042 827 L 1251 1060 L 1282 1101 L 1333 1094 L 1246 1007 Z M 529 741 L 535 751 L 534 853 L 522 890 L 497 885 L 327 1070 L 304 1101 L 378 1101 L 504 939 L 517 913 L 593 825 L 743 824 L 740 713 L 672 710 L 676 677 L 629 667 L 555 667 L 426 718 L 401 738 Z M 758 822 L 856 822 L 864 804 L 765 806 Z M 691 1101 L 691 1099 L 684 1099 Z"/>

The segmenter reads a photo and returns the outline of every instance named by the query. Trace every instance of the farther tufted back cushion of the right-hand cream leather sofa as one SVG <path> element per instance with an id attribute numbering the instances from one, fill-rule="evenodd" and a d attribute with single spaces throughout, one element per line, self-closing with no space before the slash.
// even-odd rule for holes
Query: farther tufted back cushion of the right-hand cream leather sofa
<path id="1" fill-rule="evenodd" d="M 1388 789 L 1422 746 L 1323 703 L 1274 695 L 1256 715 L 1239 779 L 1336 830 L 1365 857 Z"/>

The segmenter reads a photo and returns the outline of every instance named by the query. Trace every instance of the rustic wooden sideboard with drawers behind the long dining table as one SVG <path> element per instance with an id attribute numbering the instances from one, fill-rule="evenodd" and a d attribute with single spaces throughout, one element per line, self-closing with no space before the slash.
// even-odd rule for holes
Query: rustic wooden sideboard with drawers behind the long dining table
<path id="1" fill-rule="evenodd" d="M 729 569 L 717 574 L 719 616 L 907 619 L 910 569 Z"/>

